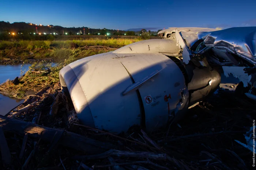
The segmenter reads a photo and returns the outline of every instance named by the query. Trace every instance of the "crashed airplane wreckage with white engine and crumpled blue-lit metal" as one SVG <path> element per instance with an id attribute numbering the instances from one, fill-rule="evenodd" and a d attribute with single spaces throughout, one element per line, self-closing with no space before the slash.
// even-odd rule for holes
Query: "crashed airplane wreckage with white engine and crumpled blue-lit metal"
<path id="1" fill-rule="evenodd" d="M 214 92 L 223 71 L 256 98 L 256 27 L 169 28 L 158 36 L 164 39 L 83 58 L 60 71 L 82 124 L 115 134 L 135 124 L 147 131 L 165 127 Z"/>

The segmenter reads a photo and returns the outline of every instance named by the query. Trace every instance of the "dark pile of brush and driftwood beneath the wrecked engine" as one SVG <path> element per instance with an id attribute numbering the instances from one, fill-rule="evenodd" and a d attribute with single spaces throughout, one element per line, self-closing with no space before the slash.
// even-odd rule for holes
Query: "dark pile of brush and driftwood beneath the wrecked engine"
<path id="1" fill-rule="evenodd" d="M 245 143 L 255 103 L 219 89 L 178 124 L 114 135 L 79 124 L 60 84 L 0 116 L 0 169 L 251 169 Z"/>

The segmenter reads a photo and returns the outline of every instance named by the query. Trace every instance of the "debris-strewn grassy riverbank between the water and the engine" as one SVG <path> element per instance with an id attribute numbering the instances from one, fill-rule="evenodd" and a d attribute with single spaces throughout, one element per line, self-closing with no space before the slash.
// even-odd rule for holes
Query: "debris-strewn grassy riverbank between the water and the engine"
<path id="1" fill-rule="evenodd" d="M 69 63 L 80 58 L 109 51 L 112 50 L 102 48 L 90 50 L 56 50 L 57 57 L 53 60 L 56 62 L 54 66 L 51 63 L 35 62 L 23 76 L 17 78 L 15 83 L 12 80 L 7 80 L 1 84 L 0 93 L 12 98 L 24 99 L 28 94 L 31 95 L 31 92 L 36 93 L 42 88 L 51 87 L 54 83 L 59 82 L 59 71 Z"/>

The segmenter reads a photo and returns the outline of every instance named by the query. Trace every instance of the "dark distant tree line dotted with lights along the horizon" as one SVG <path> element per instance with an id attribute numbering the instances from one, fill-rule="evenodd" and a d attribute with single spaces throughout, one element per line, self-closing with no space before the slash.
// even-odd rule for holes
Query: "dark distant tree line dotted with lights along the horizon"
<path id="1" fill-rule="evenodd" d="M 114 35 L 114 36 L 141 36 L 146 29 L 140 32 L 122 31 L 115 29 L 95 29 L 89 27 L 61 27 L 59 25 L 36 25 L 33 23 L 0 21 L 0 40 L 22 39 L 22 40 L 53 40 L 60 35 Z M 157 32 L 148 31 L 151 36 Z"/>

